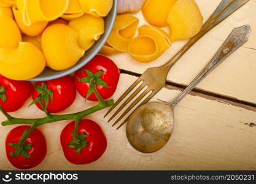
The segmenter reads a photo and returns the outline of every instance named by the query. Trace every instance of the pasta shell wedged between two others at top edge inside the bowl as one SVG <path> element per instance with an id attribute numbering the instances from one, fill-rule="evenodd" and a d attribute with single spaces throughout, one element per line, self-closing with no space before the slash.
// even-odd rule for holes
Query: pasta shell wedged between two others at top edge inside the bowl
<path id="1" fill-rule="evenodd" d="M 73 20 L 83 16 L 83 10 L 80 6 L 79 0 L 69 0 L 69 6 L 66 12 L 61 16 L 66 20 Z"/>

